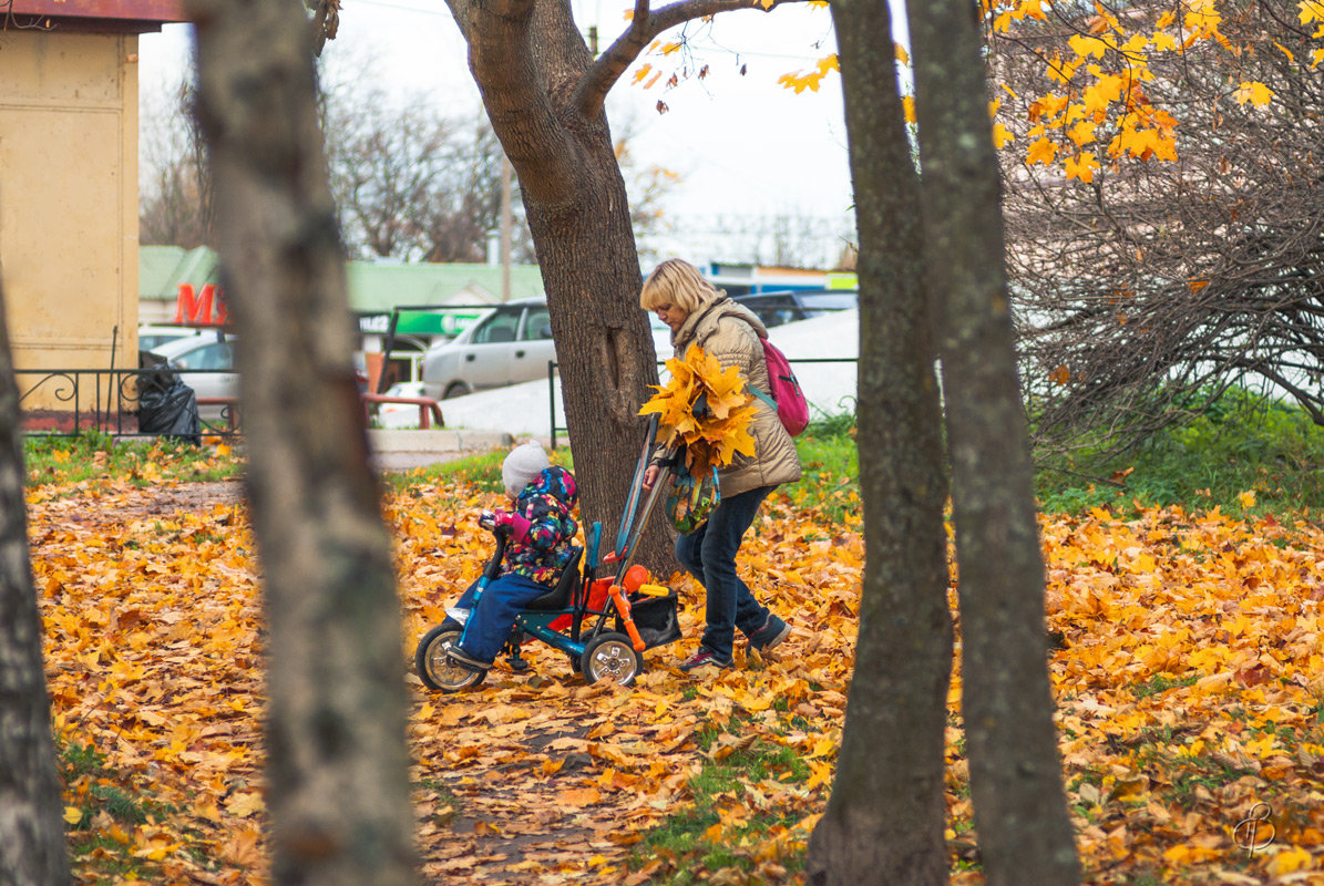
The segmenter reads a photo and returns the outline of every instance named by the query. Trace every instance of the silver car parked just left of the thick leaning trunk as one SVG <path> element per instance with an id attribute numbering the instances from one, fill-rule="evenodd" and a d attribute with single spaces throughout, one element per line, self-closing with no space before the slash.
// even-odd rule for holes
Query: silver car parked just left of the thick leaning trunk
<path id="1" fill-rule="evenodd" d="M 670 330 L 649 317 L 658 356 L 671 356 Z M 555 359 L 547 302 L 507 302 L 450 342 L 428 348 L 422 358 L 424 396 L 444 400 L 545 379 L 547 363 Z"/>

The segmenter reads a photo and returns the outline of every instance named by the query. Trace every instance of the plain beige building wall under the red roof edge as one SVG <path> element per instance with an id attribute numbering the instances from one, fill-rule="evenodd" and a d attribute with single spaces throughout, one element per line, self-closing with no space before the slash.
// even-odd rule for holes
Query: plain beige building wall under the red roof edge
<path id="1" fill-rule="evenodd" d="M 117 330 L 115 367 L 138 364 L 136 62 L 135 34 L 0 32 L 0 279 L 20 369 L 110 368 Z M 57 408 L 38 399 L 24 408 Z"/>

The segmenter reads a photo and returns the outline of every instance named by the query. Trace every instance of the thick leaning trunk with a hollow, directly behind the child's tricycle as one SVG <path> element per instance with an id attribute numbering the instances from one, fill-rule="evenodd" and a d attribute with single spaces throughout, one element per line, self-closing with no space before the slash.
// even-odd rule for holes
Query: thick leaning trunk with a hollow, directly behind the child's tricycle
<path id="1" fill-rule="evenodd" d="M 614 538 L 643 441 L 638 411 L 658 373 L 606 117 L 600 105 L 583 113 L 575 101 L 593 58 L 569 4 L 449 3 L 493 128 L 519 176 L 547 289 L 584 522 L 601 520 Z M 653 520 L 638 559 L 662 575 L 677 568 L 663 520 Z"/>

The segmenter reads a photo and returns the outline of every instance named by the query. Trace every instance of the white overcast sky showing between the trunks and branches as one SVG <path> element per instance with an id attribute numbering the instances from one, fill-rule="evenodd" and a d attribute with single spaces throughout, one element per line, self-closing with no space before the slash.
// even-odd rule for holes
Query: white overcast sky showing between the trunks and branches
<path id="1" fill-rule="evenodd" d="M 633 8 L 621 0 L 572 3 L 585 30 L 597 23 L 604 48 L 625 28 L 624 12 Z M 829 74 L 817 93 L 798 95 L 777 85 L 781 74 L 812 68 L 835 52 L 830 13 L 802 4 L 772 13 L 730 12 L 711 25 L 690 25 L 687 37 L 694 56 L 686 64 L 691 70 L 707 65 L 707 78 L 666 90 L 663 75 L 645 90 L 626 74 L 608 103 L 613 132 L 626 126 L 634 132 L 636 156 L 681 176 L 666 205 L 671 220 L 711 228 L 715 216 L 847 217 L 850 172 L 839 77 Z M 189 45 L 187 25 L 142 37 L 144 115 L 154 102 L 160 105 L 164 85 L 179 82 Z M 340 33 L 324 54 L 332 65 L 338 58 L 363 64 L 369 69 L 364 79 L 422 93 L 446 113 L 479 107 L 463 40 L 442 0 L 344 0 Z M 658 114 L 658 101 L 667 113 Z M 702 246 L 675 244 L 675 252 L 695 249 Z"/>

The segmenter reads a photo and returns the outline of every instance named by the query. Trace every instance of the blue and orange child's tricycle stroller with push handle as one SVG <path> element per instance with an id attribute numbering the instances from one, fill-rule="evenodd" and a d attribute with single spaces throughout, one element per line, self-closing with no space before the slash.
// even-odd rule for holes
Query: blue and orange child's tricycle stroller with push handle
<path id="1" fill-rule="evenodd" d="M 643 471 L 657 429 L 658 417 L 653 416 L 630 482 L 616 546 L 600 558 L 602 524 L 593 523 L 587 534 L 588 550 L 575 547 L 556 585 L 527 604 L 515 618 L 515 628 L 504 646 L 511 669 L 519 671 L 528 667 L 520 656 L 520 646 L 539 640 L 565 653 L 571 670 L 583 673 L 589 683 L 606 679 L 629 686 L 643 671 L 645 650 L 681 638 L 675 592 L 654 584 L 647 569 L 633 564 L 639 536 L 671 470 L 663 465 L 662 475 L 642 502 L 641 511 Z M 478 580 L 475 604 L 483 588 L 500 571 L 508 536 L 508 528 L 494 526 L 486 513 L 479 526 L 493 532 L 496 550 Z M 597 577 L 598 571 L 605 575 Z M 487 675 L 448 660 L 450 648 L 459 642 L 467 616 L 469 611 L 448 609 L 446 620 L 418 641 L 414 667 L 428 689 L 455 693 L 478 686 Z"/>

